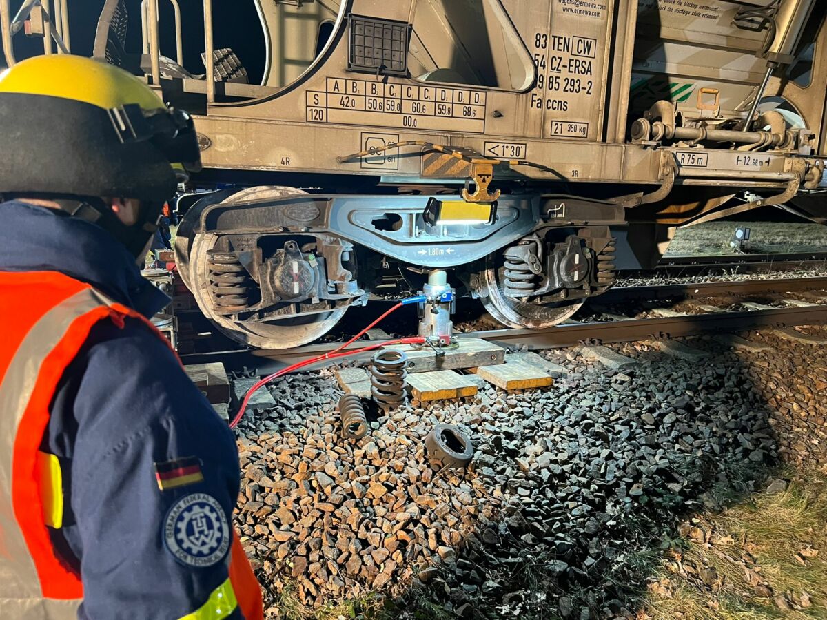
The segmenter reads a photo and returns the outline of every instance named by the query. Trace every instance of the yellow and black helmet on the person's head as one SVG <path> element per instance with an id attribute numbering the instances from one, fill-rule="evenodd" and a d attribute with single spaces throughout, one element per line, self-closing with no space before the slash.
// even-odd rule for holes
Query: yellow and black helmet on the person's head
<path id="1" fill-rule="evenodd" d="M 0 193 L 164 201 L 200 169 L 192 119 L 134 75 L 74 55 L 0 75 Z"/>

